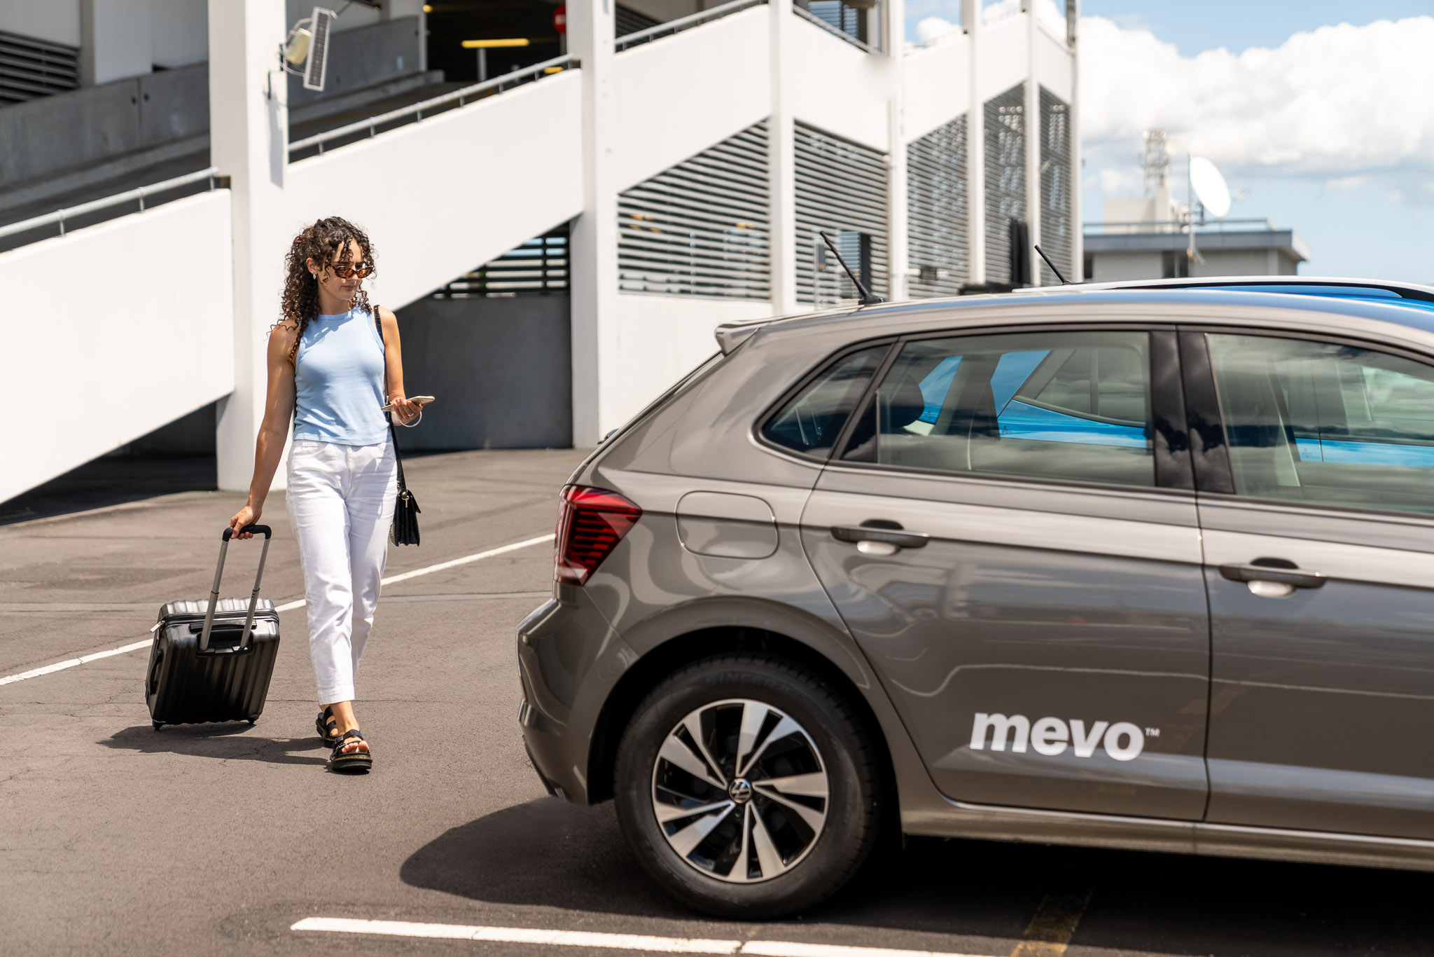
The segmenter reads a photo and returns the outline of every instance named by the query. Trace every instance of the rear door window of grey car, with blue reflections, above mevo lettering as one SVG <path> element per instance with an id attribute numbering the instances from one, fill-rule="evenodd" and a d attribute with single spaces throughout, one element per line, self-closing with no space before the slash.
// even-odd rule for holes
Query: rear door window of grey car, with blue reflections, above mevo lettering
<path id="1" fill-rule="evenodd" d="M 906 343 L 876 393 L 876 461 L 1154 485 L 1149 339 L 1051 331 Z"/>

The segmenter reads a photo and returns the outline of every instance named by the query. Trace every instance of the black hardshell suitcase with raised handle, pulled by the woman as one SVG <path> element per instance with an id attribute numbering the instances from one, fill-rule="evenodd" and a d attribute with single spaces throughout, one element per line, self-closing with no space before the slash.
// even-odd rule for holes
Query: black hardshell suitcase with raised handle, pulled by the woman
<path id="1" fill-rule="evenodd" d="M 145 703 L 155 730 L 204 722 L 252 725 L 264 713 L 278 654 L 278 614 L 272 601 L 260 598 L 271 531 L 268 525 L 250 525 L 244 531 L 264 534 L 248 600 L 219 597 L 232 532 L 225 528 L 209 600 L 171 601 L 159 608 L 145 673 Z"/>

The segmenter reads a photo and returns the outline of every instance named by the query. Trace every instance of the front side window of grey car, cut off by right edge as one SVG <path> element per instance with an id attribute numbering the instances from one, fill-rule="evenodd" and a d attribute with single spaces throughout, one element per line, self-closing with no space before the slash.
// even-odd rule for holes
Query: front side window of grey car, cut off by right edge
<path id="1" fill-rule="evenodd" d="M 1301 339 L 1209 341 L 1238 494 L 1434 512 L 1434 367 Z"/>

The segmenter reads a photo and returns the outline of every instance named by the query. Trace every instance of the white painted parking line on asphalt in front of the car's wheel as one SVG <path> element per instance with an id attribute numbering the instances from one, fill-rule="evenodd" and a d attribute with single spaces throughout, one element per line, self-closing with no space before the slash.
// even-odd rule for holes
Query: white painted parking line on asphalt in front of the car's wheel
<path id="1" fill-rule="evenodd" d="M 476 927 L 467 924 L 414 924 L 412 921 L 366 921 L 347 917 L 305 917 L 290 930 L 331 934 L 380 934 L 384 937 L 429 937 L 476 940 L 541 947 L 601 947 L 644 950 L 658 954 L 757 954 L 760 957 L 971 957 L 949 951 L 892 950 L 891 947 L 845 947 L 800 944 L 783 940 L 706 940 L 701 937 L 648 937 L 644 934 L 601 934 L 597 931 L 543 930 L 529 927 Z"/>

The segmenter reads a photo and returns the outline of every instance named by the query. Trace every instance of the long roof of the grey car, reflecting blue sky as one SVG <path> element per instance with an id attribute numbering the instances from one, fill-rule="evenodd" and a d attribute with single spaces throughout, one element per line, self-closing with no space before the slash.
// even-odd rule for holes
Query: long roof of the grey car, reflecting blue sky
<path id="1" fill-rule="evenodd" d="M 1238 277 L 1240 286 L 1248 277 Z M 1355 283 L 1358 280 L 1354 280 Z M 1304 280 L 1301 284 L 1311 284 Z M 1318 283 L 1314 283 L 1318 286 Z M 1428 287 L 1410 286 L 1421 291 Z M 1434 288 L 1428 288 L 1434 297 Z M 1431 298 L 1430 301 L 1434 301 Z M 1305 329 L 1325 334 L 1364 333 L 1392 337 L 1421 352 L 1434 353 L 1434 308 L 1428 301 L 1390 294 L 1348 296 L 1309 294 L 1296 290 L 1250 290 L 1183 286 L 1127 286 L 1094 288 L 1090 286 L 1048 286 L 1024 290 L 1020 294 L 954 296 L 946 298 L 909 300 L 878 306 L 849 307 L 837 311 L 787 316 L 770 320 L 727 323 L 717 327 L 723 352 L 731 352 L 743 340 L 760 331 L 760 339 L 786 339 L 806 331 L 847 330 L 852 337 L 882 333 L 916 333 L 938 330 L 946 323 L 955 326 L 1001 321 L 1001 313 L 1011 310 L 1011 320 L 1022 323 L 1060 323 L 1093 320 L 1093 308 L 1108 306 L 1113 321 L 1199 323 L 1210 319 L 1219 323 L 1256 323 L 1260 317 L 1272 324 Z M 1170 316 L 1146 306 L 1179 307 Z M 1131 308 L 1134 307 L 1134 308 Z M 1017 316 L 1018 314 L 1018 316 Z"/>

